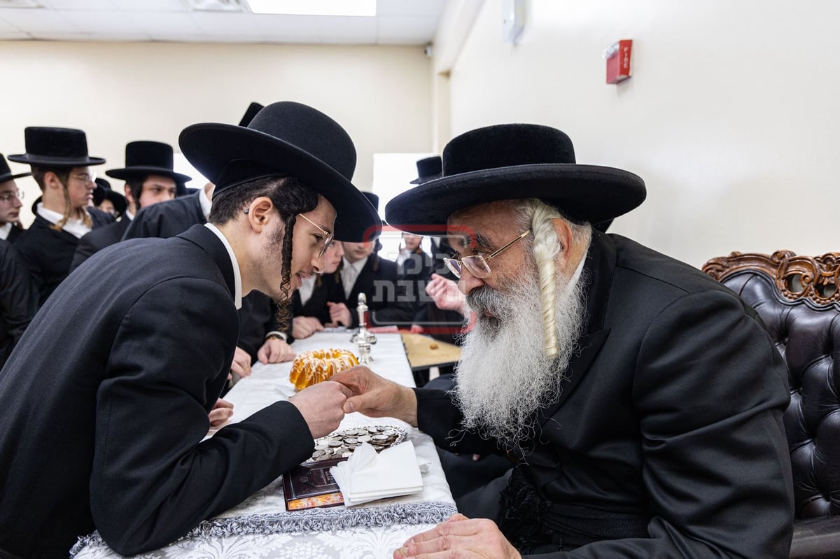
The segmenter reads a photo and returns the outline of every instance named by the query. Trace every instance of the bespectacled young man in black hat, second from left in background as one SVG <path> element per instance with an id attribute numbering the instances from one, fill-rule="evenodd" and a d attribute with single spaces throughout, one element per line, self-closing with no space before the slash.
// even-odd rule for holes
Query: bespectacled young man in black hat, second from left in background
<path id="1" fill-rule="evenodd" d="M 27 163 L 41 189 L 34 206 L 35 220 L 15 243 L 29 269 L 39 305 L 70 273 L 79 239 L 113 216 L 89 206 L 96 187 L 90 168 L 105 159 L 87 154 L 87 137 L 76 128 L 29 127 L 24 130 L 26 153 L 9 155 Z"/>

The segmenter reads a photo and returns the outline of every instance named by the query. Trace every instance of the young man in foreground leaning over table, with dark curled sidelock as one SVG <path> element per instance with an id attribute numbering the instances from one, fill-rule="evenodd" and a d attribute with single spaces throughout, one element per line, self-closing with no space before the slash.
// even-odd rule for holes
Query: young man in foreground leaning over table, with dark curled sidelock
<path id="1" fill-rule="evenodd" d="M 0 556 L 66 556 L 94 529 L 121 555 L 165 546 L 305 460 L 344 417 L 346 389 L 325 382 L 202 441 L 242 296 L 286 305 L 333 232 L 355 240 L 378 223 L 350 183 L 349 135 L 280 102 L 248 128 L 195 124 L 179 143 L 216 184 L 209 223 L 94 254 L 0 371 Z"/>

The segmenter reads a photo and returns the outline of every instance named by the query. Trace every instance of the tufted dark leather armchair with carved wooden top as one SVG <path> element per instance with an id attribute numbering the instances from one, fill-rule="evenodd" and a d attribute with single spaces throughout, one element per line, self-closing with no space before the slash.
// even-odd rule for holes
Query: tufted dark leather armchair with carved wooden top
<path id="1" fill-rule="evenodd" d="M 759 312 L 788 365 L 790 557 L 840 557 L 840 253 L 731 253 L 703 271 Z"/>

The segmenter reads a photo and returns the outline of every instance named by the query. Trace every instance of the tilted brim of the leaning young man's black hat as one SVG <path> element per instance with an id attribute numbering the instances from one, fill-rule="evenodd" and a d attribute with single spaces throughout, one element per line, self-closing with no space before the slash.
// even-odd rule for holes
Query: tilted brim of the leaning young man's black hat
<path id="1" fill-rule="evenodd" d="M 379 214 L 359 189 L 321 159 L 280 138 L 231 124 L 201 123 L 184 128 L 178 144 L 192 166 L 213 183 L 234 160 L 297 177 L 333 205 L 334 234 L 341 241 L 370 241 L 379 235 Z"/>

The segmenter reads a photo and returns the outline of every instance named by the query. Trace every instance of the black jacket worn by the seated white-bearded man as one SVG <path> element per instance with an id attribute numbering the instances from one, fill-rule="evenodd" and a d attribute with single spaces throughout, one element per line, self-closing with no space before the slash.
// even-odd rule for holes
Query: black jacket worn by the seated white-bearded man
<path id="1" fill-rule="evenodd" d="M 759 317 L 706 274 L 617 235 L 593 232 L 584 277 L 585 334 L 518 468 L 552 503 L 650 520 L 648 538 L 574 556 L 786 558 L 790 397 Z M 472 434 L 448 438 L 460 419 L 448 394 L 417 398 L 438 445 L 495 450 Z"/>

